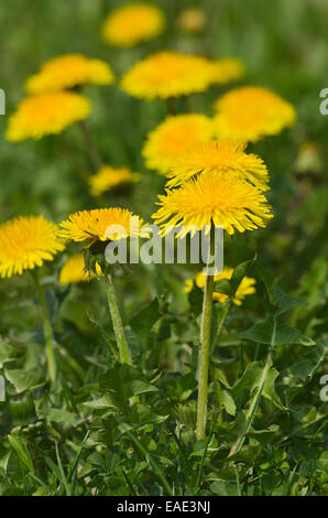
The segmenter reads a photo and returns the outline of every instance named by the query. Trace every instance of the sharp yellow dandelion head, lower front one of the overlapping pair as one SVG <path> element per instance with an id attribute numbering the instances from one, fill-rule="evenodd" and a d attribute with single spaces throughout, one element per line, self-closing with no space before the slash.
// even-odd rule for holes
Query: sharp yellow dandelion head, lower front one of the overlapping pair
<path id="1" fill-rule="evenodd" d="M 183 225 L 178 237 L 184 237 L 192 228 L 201 230 L 212 224 L 230 235 L 234 229 L 254 230 L 265 227 L 272 217 L 262 192 L 233 176 L 200 174 L 178 188 L 167 190 L 166 195 L 158 198 L 161 208 L 152 216 L 155 224 L 162 224 L 163 234 Z"/>

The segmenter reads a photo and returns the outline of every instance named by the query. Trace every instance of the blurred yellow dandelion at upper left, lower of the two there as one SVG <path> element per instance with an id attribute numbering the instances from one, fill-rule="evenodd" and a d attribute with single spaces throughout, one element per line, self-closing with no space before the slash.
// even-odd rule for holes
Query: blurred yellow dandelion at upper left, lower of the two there
<path id="1" fill-rule="evenodd" d="M 72 91 L 52 91 L 26 97 L 10 117 L 6 137 L 17 142 L 61 133 L 73 122 L 85 119 L 89 111 L 88 99 Z"/>

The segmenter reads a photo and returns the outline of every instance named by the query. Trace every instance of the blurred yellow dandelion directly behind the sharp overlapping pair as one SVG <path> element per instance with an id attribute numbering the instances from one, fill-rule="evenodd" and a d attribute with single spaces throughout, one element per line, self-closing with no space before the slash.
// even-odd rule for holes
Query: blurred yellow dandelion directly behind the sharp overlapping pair
<path id="1" fill-rule="evenodd" d="M 167 174 L 186 149 L 212 136 L 211 119 L 200 114 L 167 117 L 151 131 L 142 150 L 145 164 L 161 174 Z"/>

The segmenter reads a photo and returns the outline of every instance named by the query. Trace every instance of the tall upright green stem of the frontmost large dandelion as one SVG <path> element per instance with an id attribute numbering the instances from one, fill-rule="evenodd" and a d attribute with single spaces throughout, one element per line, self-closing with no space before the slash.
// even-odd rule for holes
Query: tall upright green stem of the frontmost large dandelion
<path id="1" fill-rule="evenodd" d="M 199 350 L 199 378 L 198 378 L 198 402 L 196 436 L 204 439 L 206 434 L 207 392 L 208 392 L 208 366 L 210 348 L 210 328 L 212 310 L 214 276 L 206 276 L 203 315 L 200 325 L 200 350 Z"/>

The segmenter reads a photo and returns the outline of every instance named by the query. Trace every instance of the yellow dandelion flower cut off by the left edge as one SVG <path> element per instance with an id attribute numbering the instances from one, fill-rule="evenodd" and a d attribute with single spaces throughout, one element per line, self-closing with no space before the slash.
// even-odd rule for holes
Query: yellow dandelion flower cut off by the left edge
<path id="1" fill-rule="evenodd" d="M 20 216 L 0 226 L 0 277 L 21 276 L 24 270 L 52 261 L 64 249 L 57 227 L 43 216 Z"/>

